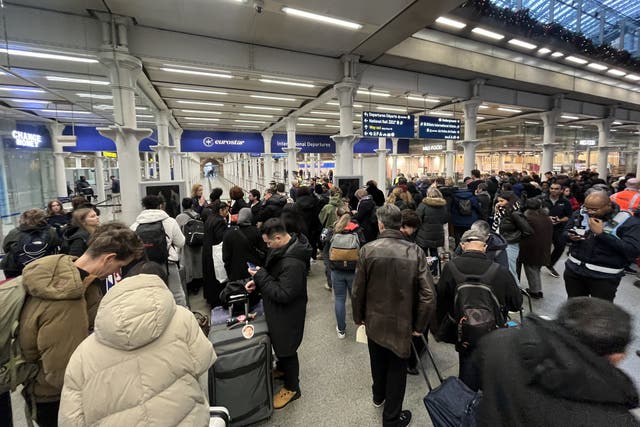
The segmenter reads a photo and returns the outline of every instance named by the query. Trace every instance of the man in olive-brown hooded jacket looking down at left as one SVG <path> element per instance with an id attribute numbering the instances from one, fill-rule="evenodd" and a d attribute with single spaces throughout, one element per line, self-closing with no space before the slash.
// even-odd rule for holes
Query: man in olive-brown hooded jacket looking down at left
<path id="1" fill-rule="evenodd" d="M 79 257 L 51 255 L 29 264 L 23 274 L 27 298 L 20 314 L 18 342 L 27 362 L 40 365 L 28 387 L 35 421 L 55 427 L 64 372 L 76 347 L 93 329 L 100 302 L 94 279 L 104 279 L 140 258 L 144 247 L 124 225 L 96 230 Z"/>

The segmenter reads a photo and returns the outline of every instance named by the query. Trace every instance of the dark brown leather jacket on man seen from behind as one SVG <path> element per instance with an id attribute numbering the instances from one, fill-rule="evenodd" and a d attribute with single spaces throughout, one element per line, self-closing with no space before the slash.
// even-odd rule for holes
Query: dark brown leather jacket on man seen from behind
<path id="1" fill-rule="evenodd" d="M 351 294 L 353 320 L 375 343 L 406 359 L 411 333 L 435 314 L 435 290 L 422 249 L 398 230 L 383 230 L 360 249 Z"/>

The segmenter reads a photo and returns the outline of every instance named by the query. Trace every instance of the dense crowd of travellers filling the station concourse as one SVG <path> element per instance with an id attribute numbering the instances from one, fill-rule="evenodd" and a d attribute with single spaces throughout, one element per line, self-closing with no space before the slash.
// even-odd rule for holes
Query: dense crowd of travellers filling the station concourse
<path id="1" fill-rule="evenodd" d="M 485 396 L 488 392 L 478 409 L 480 425 L 540 425 L 523 415 L 536 409 L 518 402 L 524 395 L 516 393 L 525 392 L 549 407 L 564 399 L 597 412 L 594 420 L 609 413 L 628 423 L 619 425 L 637 425 L 628 414 L 638 405 L 637 392 L 615 368 L 631 340 L 631 322 L 613 301 L 625 273 L 636 272 L 640 256 L 638 180 L 627 175 L 605 181 L 591 171 L 540 177 L 474 170 L 471 175 L 455 185 L 450 178 L 398 174 L 386 195 L 373 180 L 362 188 L 340 188 L 328 178 L 308 177 L 289 188 L 273 182 L 264 194 L 232 186 L 227 195 L 214 188 L 209 197 L 196 184 L 177 216 L 166 212 L 161 197 L 146 196 L 130 226 L 101 225 L 99 210 L 83 197 L 74 198 L 71 213 L 57 200 L 46 211 L 24 212 L 4 239 L 2 269 L 7 278 L 20 277 L 28 295 L 20 343 L 25 356 L 40 364 L 28 406 L 42 426 L 57 425 L 58 419 L 62 425 L 121 425 L 122 417 L 133 417 L 126 423 L 153 422 L 157 414 L 127 403 L 134 399 L 127 378 L 158 374 L 158 366 L 143 366 L 140 360 L 152 360 L 162 345 L 179 343 L 175 351 L 182 348 L 194 360 L 172 356 L 171 369 L 187 379 L 167 385 L 158 377 L 140 387 L 154 390 L 147 402 L 153 407 L 162 405 L 165 394 L 188 395 L 159 413 L 178 420 L 174 424 L 188 419 L 189 425 L 206 425 L 206 393 L 198 381 L 214 363 L 215 352 L 196 330 L 189 299 L 202 291 L 210 308 L 224 307 L 226 285 L 241 281 L 253 302 L 264 304 L 277 358 L 274 377 L 284 381 L 274 407 L 283 408 L 302 396 L 298 348 L 304 337 L 307 275 L 321 260 L 324 286 L 334 296 L 337 338 L 349 333 L 347 297 L 355 324 L 366 328 L 372 401 L 384 406 L 384 426 L 411 422 L 411 413 L 402 409 L 406 375 L 418 374 L 421 336 L 429 331 L 455 345 L 459 378 L 466 386 L 482 389 Z M 505 328 L 509 312 L 522 309 L 523 296 L 544 297 L 544 275 L 559 277 L 556 266 L 567 246 L 564 282 L 570 301 L 558 319 L 533 316 L 521 328 Z M 108 290 L 107 276 L 130 278 Z M 141 305 L 144 298 L 157 304 Z M 591 312 L 600 313 L 599 324 L 585 317 Z M 126 326 L 142 316 L 149 324 Z M 604 333 L 602 328 L 609 326 L 615 330 Z M 73 339 L 60 340 L 60 334 Z M 594 392 L 589 405 L 576 393 L 523 372 L 510 386 L 514 405 L 521 407 L 513 414 L 496 409 L 503 389 L 495 384 L 498 374 L 488 372 L 499 370 L 496 360 L 506 356 L 493 354 L 497 346 L 487 342 L 501 334 L 514 347 L 509 363 L 522 357 L 534 364 L 529 375 L 547 369 L 550 381 L 572 372 L 546 366 L 551 359 L 545 351 L 552 351 L 546 348 L 527 358 L 527 340 L 562 341 L 563 360 L 579 359 L 584 369 L 595 369 L 596 356 L 601 368 L 606 359 L 601 383 L 611 381 L 611 395 L 620 397 Z M 144 355 L 137 354 L 142 347 Z M 109 384 L 113 396 L 122 399 L 96 394 L 95 378 L 113 369 L 109 360 L 135 368 Z M 578 387 L 595 381 L 571 378 Z M 537 382 L 544 384 L 534 392 Z M 0 413 L 7 413 L 8 398 L 8 393 L 3 396 Z M 10 414 L 10 403 L 8 408 Z M 544 425 L 559 425 L 538 417 Z"/>

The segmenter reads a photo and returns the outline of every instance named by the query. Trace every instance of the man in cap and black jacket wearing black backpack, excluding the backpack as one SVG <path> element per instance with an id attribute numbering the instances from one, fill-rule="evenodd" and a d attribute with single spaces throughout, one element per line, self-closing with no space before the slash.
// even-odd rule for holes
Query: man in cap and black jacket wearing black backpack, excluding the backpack
<path id="1" fill-rule="evenodd" d="M 456 281 L 452 273 L 451 263 L 465 278 L 481 277 L 490 267 L 493 267 L 493 276 L 482 284 L 490 286 L 491 291 L 500 303 L 500 309 L 506 314 L 507 311 L 518 311 L 522 307 L 522 294 L 516 284 L 513 275 L 508 269 L 494 263 L 486 256 L 487 235 L 471 229 L 466 231 L 460 239 L 462 254 L 451 260 L 442 269 L 442 275 L 438 281 L 437 295 L 437 318 L 438 324 L 442 325 L 447 318 L 453 319 L 456 324 L 460 320 L 460 313 L 457 313 L 455 302 L 457 295 L 457 287 L 460 284 Z M 482 303 L 483 301 L 479 301 Z M 472 354 L 475 350 L 475 343 L 471 343 L 468 347 L 463 347 L 458 343 L 457 337 L 443 337 L 447 342 L 456 342 L 456 351 L 460 360 L 460 372 L 458 377 L 469 386 L 472 390 L 479 387 L 479 378 L 476 369 L 472 364 Z"/>

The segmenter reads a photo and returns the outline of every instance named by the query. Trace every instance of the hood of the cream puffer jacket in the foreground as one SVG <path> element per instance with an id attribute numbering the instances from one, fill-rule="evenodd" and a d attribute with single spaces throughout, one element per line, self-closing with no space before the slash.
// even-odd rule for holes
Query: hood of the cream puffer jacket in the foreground
<path id="1" fill-rule="evenodd" d="M 139 274 L 126 278 L 100 302 L 96 339 L 120 350 L 140 348 L 162 335 L 175 311 L 173 295 L 158 276 Z"/>

